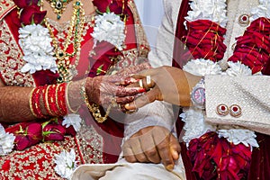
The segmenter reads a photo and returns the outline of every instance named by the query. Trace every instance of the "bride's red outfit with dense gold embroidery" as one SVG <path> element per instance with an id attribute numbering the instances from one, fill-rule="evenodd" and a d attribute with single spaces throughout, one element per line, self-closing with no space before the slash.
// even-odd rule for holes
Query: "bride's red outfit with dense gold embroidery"
<path id="1" fill-rule="evenodd" d="M 148 42 L 132 0 L 128 1 L 127 14 L 126 46 L 121 53 L 115 52 L 117 54 L 113 55 L 114 49 L 113 51 L 111 49 L 107 55 L 117 57 L 119 61 L 112 66 L 112 61 L 110 58 L 106 58 L 106 52 L 103 52 L 103 58 L 98 58 L 94 63 L 93 59 L 90 61 L 92 69 L 88 76 L 103 75 L 104 73 L 97 73 L 97 68 L 101 65 L 103 65 L 103 70 L 112 67 L 129 67 L 139 64 L 138 57 L 147 57 Z M 18 44 L 19 26 L 16 22 L 18 14 L 13 1 L 8 0 L 0 3 L 0 18 L 0 76 L 4 84 L 14 86 L 55 84 L 57 76 L 50 71 L 38 71 L 32 75 L 20 72 L 24 62 L 23 52 Z M 57 37 L 57 25 L 50 24 Z M 87 28 L 85 28 L 84 40 L 82 41 L 81 58 L 77 66 L 78 76 L 76 78 L 85 76 L 85 71 L 89 68 L 89 53 L 94 44 L 90 35 L 94 29 L 92 17 L 85 19 L 85 27 Z M 63 39 L 65 37 L 62 37 Z M 99 45 L 97 45 L 98 47 Z M 101 46 L 100 49 L 102 49 Z M 67 151 L 70 151 L 71 148 L 75 149 L 78 165 L 115 162 L 121 152 L 121 138 L 123 136 L 121 122 L 108 118 L 103 123 L 97 123 L 86 107 L 82 107 L 80 112 L 85 121 L 75 137 L 66 136 L 63 141 L 39 143 L 23 151 L 14 150 L 12 153 L 0 157 L 0 179 L 27 179 L 29 177 L 33 179 L 61 179 L 54 171 L 53 159 L 63 149 Z M 12 131 L 23 124 L 3 125 L 6 131 Z"/>

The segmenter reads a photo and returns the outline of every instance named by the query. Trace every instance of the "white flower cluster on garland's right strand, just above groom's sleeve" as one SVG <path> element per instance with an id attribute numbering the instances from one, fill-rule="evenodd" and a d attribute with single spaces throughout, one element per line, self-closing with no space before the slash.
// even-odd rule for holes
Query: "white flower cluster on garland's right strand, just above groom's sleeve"
<path id="1" fill-rule="evenodd" d="M 226 74 L 229 76 L 251 76 L 252 71 L 246 65 L 238 62 L 228 62 L 229 68 L 226 70 Z"/>

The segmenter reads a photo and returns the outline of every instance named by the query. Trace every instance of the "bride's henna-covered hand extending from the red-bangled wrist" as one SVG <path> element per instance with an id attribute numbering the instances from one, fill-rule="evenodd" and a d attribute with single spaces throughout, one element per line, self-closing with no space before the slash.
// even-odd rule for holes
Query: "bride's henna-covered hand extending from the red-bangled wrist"
<path id="1" fill-rule="evenodd" d="M 85 91 L 90 102 L 104 107 L 113 102 L 130 103 L 135 99 L 136 94 L 145 92 L 141 87 L 127 87 L 136 81 L 132 77 L 118 75 L 88 77 L 85 82 Z"/>

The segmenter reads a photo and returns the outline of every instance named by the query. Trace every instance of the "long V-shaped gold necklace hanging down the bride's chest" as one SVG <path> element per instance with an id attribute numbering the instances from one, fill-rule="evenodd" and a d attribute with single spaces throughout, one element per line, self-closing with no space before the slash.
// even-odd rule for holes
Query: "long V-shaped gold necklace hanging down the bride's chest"
<path id="1" fill-rule="evenodd" d="M 82 34 L 85 26 L 85 11 L 82 8 L 83 4 L 80 0 L 76 0 L 73 4 L 73 14 L 67 31 L 67 38 L 64 43 L 63 49 L 58 45 L 58 40 L 54 35 L 54 31 L 49 25 L 47 19 L 45 19 L 45 24 L 49 30 L 50 37 L 52 39 L 52 46 L 55 49 L 55 56 L 58 58 L 58 82 L 69 82 L 74 76 L 76 76 L 76 66 L 80 58 L 80 49 L 82 42 Z M 74 40 L 72 41 L 72 35 L 74 35 Z M 72 43 L 71 43 L 72 42 Z M 67 48 L 73 45 L 73 52 L 68 53 Z M 71 64 L 69 59 L 75 57 L 75 63 Z"/>

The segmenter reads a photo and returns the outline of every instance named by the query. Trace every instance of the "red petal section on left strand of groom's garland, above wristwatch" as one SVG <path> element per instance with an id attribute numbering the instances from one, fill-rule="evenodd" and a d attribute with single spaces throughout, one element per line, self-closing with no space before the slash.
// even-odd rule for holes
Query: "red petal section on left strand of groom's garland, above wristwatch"
<path id="1" fill-rule="evenodd" d="M 208 20 L 187 22 L 187 36 L 182 41 L 189 47 L 184 59 L 205 58 L 214 62 L 223 58 L 226 46 L 223 35 L 226 29 Z"/>

